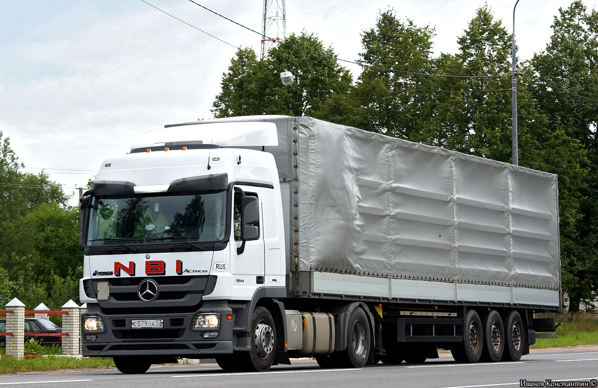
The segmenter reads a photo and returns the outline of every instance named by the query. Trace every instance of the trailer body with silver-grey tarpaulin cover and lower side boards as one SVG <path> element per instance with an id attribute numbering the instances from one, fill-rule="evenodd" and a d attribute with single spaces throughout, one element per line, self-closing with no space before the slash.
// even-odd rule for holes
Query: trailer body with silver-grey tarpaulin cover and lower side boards
<path id="1" fill-rule="evenodd" d="M 266 151 L 291 283 L 309 272 L 322 295 L 560 305 L 556 175 L 312 117 L 224 120 L 277 126 Z"/>

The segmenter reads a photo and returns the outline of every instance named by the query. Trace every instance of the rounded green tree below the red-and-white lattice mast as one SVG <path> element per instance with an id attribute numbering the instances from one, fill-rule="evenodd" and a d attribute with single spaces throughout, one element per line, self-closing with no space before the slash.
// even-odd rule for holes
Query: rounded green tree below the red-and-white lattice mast
<path id="1" fill-rule="evenodd" d="M 296 77 L 291 86 L 280 82 L 280 72 L 285 68 Z M 237 50 L 228 72 L 222 75 L 222 91 L 216 96 L 212 112 L 215 117 L 322 117 L 331 96 L 347 93 L 351 83 L 349 72 L 338 65 L 332 48 L 324 48 L 313 34 L 291 34 L 261 61 L 251 48 Z"/>

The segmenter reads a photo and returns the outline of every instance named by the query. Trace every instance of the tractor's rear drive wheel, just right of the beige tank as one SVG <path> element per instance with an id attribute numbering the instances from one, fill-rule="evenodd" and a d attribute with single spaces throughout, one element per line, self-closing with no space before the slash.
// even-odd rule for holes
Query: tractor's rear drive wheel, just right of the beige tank
<path id="1" fill-rule="evenodd" d="M 364 310 L 356 308 L 349 316 L 347 325 L 347 348 L 340 354 L 344 368 L 363 368 L 370 357 L 370 324 Z"/>

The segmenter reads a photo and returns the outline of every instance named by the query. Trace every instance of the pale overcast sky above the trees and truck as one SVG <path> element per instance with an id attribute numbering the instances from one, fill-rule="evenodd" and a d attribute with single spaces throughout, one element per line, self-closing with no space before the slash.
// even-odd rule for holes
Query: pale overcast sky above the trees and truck
<path id="1" fill-rule="evenodd" d="M 188 0 L 147 0 L 233 46 L 260 47 L 260 36 Z M 260 31 L 263 0 L 196 0 Z M 559 7 L 571 1 L 521 0 L 518 54 L 544 50 Z M 598 0 L 585 0 L 588 8 Z M 434 53 L 454 53 L 479 0 L 286 0 L 287 33 L 315 32 L 338 56 L 355 60 L 360 34 L 392 7 L 435 28 Z M 512 31 L 515 0 L 488 0 Z M 210 108 L 235 48 L 141 0 L 0 0 L 0 131 L 25 171 L 45 168 L 66 193 L 84 186 L 112 154 L 165 124 L 212 117 Z M 347 66 L 353 77 L 358 66 Z M 282 71 L 282 69 L 281 69 Z M 72 201 L 75 204 L 75 201 Z"/>

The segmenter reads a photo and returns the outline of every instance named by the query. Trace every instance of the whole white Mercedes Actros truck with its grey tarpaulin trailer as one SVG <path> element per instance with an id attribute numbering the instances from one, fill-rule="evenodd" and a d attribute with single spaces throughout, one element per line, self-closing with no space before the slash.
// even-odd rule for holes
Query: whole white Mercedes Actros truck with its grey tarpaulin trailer
<path id="1" fill-rule="evenodd" d="M 81 198 L 83 355 L 519 360 L 556 329 L 558 209 L 556 175 L 310 117 L 167 125 Z"/>

